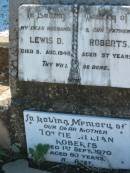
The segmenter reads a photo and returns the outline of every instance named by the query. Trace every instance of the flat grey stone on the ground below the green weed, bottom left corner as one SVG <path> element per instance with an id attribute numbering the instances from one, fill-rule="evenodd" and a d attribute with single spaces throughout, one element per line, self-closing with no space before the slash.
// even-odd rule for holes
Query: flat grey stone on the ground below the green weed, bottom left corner
<path id="1" fill-rule="evenodd" d="M 17 160 L 3 166 L 5 173 L 47 173 L 37 169 L 29 168 L 26 160 Z"/>

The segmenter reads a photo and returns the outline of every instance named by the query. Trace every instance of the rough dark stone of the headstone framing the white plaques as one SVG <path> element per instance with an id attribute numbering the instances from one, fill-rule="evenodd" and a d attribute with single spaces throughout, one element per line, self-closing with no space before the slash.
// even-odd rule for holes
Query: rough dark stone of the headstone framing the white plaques
<path id="1" fill-rule="evenodd" d="M 12 139 L 26 144 L 23 110 L 130 117 L 130 89 L 21 82 L 18 80 L 18 7 L 21 4 L 85 3 L 130 5 L 126 0 L 10 0 L 10 84 Z"/>

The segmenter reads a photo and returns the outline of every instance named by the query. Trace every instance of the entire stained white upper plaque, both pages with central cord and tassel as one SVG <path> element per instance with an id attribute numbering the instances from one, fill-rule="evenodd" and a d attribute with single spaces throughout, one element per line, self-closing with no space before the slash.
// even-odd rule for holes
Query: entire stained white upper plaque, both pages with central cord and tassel
<path id="1" fill-rule="evenodd" d="M 21 6 L 19 79 L 130 88 L 129 8 Z"/>

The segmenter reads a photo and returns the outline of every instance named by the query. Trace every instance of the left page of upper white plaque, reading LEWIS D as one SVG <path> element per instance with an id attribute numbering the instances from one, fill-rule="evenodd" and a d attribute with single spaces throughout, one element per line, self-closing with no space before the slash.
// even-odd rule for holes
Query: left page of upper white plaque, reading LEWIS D
<path id="1" fill-rule="evenodd" d="M 71 6 L 21 6 L 19 78 L 67 83 L 71 65 L 72 26 Z"/>

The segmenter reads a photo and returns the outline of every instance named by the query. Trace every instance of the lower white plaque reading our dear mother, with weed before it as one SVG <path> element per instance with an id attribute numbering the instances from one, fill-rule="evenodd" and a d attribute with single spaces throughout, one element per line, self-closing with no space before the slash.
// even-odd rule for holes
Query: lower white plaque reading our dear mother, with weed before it
<path id="1" fill-rule="evenodd" d="M 47 161 L 130 169 L 130 120 L 24 111 L 24 122 L 28 148 L 50 145 Z"/>

